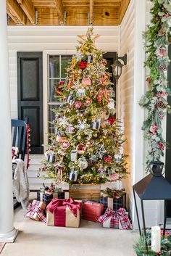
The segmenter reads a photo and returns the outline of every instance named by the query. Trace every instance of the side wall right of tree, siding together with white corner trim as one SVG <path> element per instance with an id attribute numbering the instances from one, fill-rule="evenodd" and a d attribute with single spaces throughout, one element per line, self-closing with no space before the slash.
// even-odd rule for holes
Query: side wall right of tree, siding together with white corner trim
<path id="1" fill-rule="evenodd" d="M 133 184 L 143 178 L 143 123 L 144 111 L 138 101 L 144 93 L 144 49 L 142 33 L 146 24 L 146 1 L 131 0 L 120 26 L 120 55 L 128 54 L 128 65 L 123 67 L 119 89 L 119 116 L 125 133 L 124 152 L 128 154 L 130 176 L 123 181 L 129 198 L 129 211 L 136 226 Z"/>

